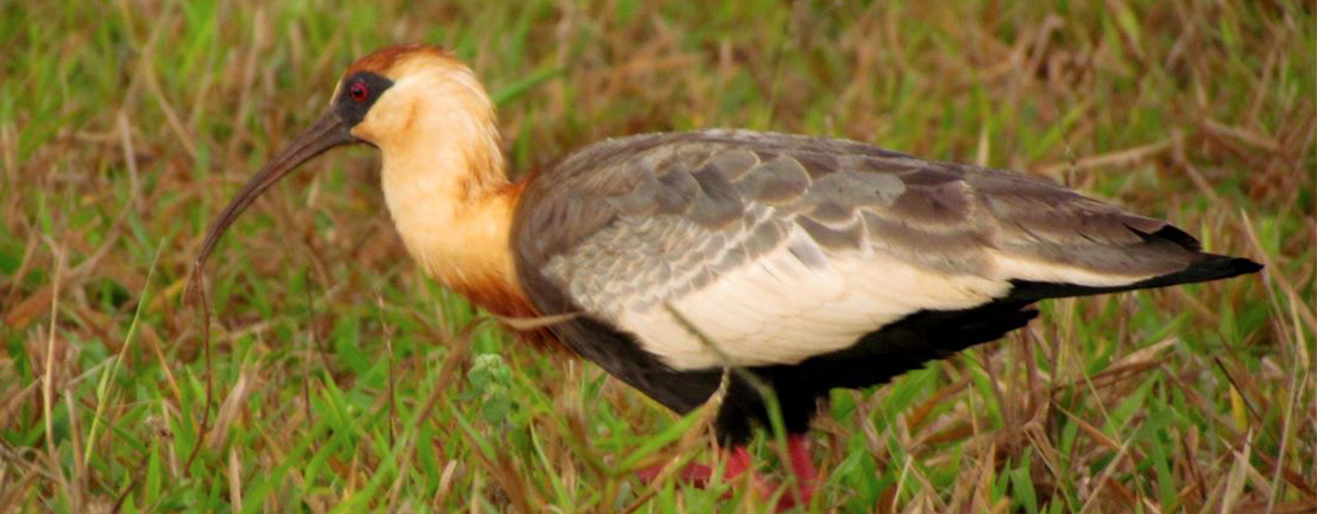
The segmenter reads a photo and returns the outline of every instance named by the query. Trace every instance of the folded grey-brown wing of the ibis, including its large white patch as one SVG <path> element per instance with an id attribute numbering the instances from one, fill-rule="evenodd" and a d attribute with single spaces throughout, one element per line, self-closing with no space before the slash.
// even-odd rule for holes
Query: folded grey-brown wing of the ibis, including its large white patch
<path id="1" fill-rule="evenodd" d="M 673 369 L 794 364 L 1015 284 L 1119 288 L 1204 255 L 1042 179 L 753 131 L 594 145 L 532 181 L 518 218 L 541 310 L 581 310 Z"/>

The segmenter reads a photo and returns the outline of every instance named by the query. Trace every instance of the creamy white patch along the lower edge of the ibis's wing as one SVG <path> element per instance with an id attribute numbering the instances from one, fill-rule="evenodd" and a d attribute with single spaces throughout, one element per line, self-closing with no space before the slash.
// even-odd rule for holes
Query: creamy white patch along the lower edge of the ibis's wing
<path id="1" fill-rule="evenodd" d="M 668 306 L 623 310 L 616 322 L 676 369 L 795 364 L 911 313 L 968 309 L 1010 289 L 1005 280 L 947 276 L 873 252 L 822 252 L 822 260 L 803 252 L 815 256 L 807 264 L 801 245 L 814 242 L 795 227 L 776 250 L 703 289 Z"/>

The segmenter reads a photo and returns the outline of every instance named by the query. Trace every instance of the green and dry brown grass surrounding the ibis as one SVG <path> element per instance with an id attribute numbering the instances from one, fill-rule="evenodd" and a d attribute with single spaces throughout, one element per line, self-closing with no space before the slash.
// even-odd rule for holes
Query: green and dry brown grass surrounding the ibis
<path id="1" fill-rule="evenodd" d="M 519 171 L 651 130 L 847 137 L 1044 175 L 1267 263 L 1047 302 L 835 392 L 802 511 L 1317 509 L 1308 3 L 51 0 L 0 1 L 0 511 L 765 509 L 635 480 L 715 460 L 701 415 L 425 280 L 370 150 L 238 222 L 202 344 L 179 296 L 208 220 L 341 67 L 404 41 L 483 76 Z"/>

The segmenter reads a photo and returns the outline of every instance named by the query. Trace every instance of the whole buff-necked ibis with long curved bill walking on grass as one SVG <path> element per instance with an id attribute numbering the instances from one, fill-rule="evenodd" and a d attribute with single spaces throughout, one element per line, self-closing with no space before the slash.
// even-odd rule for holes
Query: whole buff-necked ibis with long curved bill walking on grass
<path id="1" fill-rule="evenodd" d="M 774 398 L 797 503 L 818 485 L 807 432 L 830 390 L 1000 339 L 1042 300 L 1262 269 L 1043 177 L 846 139 L 627 135 L 514 181 L 471 68 L 395 45 L 353 62 L 319 121 L 237 192 L 194 276 L 262 192 L 345 145 L 379 150 L 385 204 L 427 275 L 494 315 L 544 319 L 512 330 L 673 411 L 716 397 L 726 479 L 752 472 Z"/>

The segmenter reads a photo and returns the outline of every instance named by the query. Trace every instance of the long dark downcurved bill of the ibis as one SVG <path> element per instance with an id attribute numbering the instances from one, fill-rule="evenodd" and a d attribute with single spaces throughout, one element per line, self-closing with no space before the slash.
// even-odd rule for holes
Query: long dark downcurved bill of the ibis
<path id="1" fill-rule="evenodd" d="M 211 251 L 215 250 L 215 245 L 224 235 L 224 231 L 270 185 L 274 185 L 274 183 L 283 179 L 288 172 L 296 170 L 298 166 L 323 154 L 325 150 L 357 142 L 358 139 L 348 129 L 338 113 L 333 110 L 327 112 L 320 117 L 320 121 L 316 121 L 302 135 L 298 135 L 292 143 L 270 159 L 255 176 L 248 180 L 205 234 L 205 242 L 202 243 L 202 251 L 196 254 L 195 267 L 192 268 L 195 273 L 194 279 L 202 275 L 205 260 L 211 256 Z"/>

